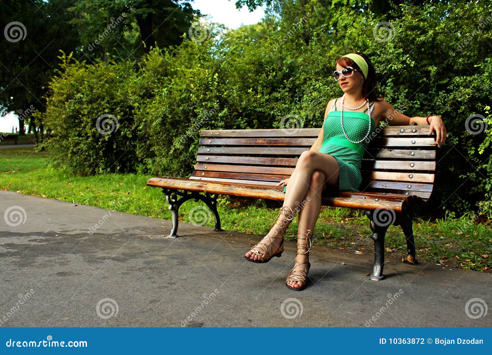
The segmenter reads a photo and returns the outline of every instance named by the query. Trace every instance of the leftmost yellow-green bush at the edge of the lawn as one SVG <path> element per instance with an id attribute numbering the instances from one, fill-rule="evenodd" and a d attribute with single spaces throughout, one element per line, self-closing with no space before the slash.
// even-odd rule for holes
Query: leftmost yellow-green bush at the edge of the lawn
<path id="1" fill-rule="evenodd" d="M 60 59 L 44 115 L 52 132 L 44 146 L 53 163 L 78 175 L 134 171 L 138 130 L 137 100 L 129 90 L 137 80 L 132 63 L 90 65 L 64 54 Z"/>

